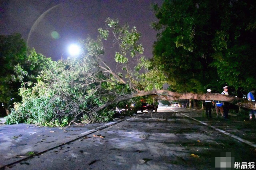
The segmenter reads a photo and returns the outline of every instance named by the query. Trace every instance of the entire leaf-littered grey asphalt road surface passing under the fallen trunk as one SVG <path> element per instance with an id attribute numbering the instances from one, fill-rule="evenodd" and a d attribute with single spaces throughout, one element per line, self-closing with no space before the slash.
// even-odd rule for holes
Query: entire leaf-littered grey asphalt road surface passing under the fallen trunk
<path id="1" fill-rule="evenodd" d="M 197 111 L 160 106 L 152 115 L 86 126 L 0 125 L 0 168 L 193 170 L 235 162 L 252 168 L 254 141 L 210 124 L 218 119 L 198 117 Z"/>

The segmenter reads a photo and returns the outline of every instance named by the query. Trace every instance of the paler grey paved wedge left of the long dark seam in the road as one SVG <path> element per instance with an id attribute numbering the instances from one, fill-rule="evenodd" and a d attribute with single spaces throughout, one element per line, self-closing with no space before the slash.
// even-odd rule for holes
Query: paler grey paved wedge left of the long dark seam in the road
<path id="1" fill-rule="evenodd" d="M 120 122 L 94 123 L 80 127 L 39 127 L 31 124 L 4 125 L 5 119 L 0 120 L 0 169 Z"/>

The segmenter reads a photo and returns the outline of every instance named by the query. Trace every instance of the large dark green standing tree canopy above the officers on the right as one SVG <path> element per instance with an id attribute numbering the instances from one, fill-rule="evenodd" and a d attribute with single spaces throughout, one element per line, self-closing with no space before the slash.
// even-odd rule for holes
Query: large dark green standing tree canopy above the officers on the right
<path id="1" fill-rule="evenodd" d="M 255 87 L 255 1 L 165 0 L 154 6 L 154 60 L 175 91 Z"/>

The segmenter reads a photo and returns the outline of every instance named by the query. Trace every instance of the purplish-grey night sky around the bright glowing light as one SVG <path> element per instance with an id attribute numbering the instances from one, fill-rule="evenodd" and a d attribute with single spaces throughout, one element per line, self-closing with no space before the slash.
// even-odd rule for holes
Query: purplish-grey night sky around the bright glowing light
<path id="1" fill-rule="evenodd" d="M 156 20 L 151 4 L 161 5 L 163 1 L 0 0 L 0 34 L 20 33 L 29 47 L 58 60 L 71 43 L 89 36 L 96 38 L 97 29 L 104 28 L 110 17 L 136 26 L 142 34 L 144 55 L 150 58 L 156 40 L 156 31 L 151 28 L 151 22 Z M 106 52 L 106 58 L 108 55 L 112 52 Z"/>

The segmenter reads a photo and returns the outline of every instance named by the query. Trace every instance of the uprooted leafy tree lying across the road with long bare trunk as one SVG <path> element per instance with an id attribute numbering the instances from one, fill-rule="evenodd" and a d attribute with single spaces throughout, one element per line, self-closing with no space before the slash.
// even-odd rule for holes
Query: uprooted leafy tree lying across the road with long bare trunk
<path id="1" fill-rule="evenodd" d="M 218 100 L 255 109 L 254 104 L 220 94 L 175 93 L 162 90 L 166 76 L 161 67 L 152 65 L 143 55 L 136 27 L 120 26 L 117 20 L 106 20 L 106 28 L 98 29 L 97 40 L 82 41 L 83 55 L 66 61 L 51 61 L 38 75 L 37 82 L 24 82 L 6 122 L 34 123 L 43 126 L 65 126 L 70 123 L 104 122 L 112 119 L 117 106 L 126 107 L 133 98 L 160 100 Z M 116 61 L 110 67 L 104 58 L 104 40 L 112 38 Z M 112 47 L 112 46 L 111 46 Z M 108 61 L 108 63 L 111 63 Z M 134 63 L 136 65 L 134 66 Z"/>

